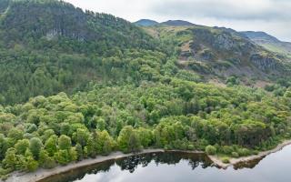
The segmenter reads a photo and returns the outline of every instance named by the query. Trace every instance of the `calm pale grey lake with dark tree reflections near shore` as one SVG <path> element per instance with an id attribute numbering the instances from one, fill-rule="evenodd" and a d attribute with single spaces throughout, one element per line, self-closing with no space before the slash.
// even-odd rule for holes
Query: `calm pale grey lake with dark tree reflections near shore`
<path id="1" fill-rule="evenodd" d="M 205 155 L 157 153 L 111 160 L 42 182 L 288 182 L 291 146 L 261 160 L 220 169 Z"/>

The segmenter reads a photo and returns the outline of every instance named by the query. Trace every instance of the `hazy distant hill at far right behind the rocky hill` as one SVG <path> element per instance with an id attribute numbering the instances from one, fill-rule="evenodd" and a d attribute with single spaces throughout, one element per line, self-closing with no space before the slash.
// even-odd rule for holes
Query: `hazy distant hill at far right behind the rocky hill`
<path id="1" fill-rule="evenodd" d="M 264 46 L 266 49 L 284 54 L 291 58 L 291 43 L 278 40 L 275 36 L 268 35 L 265 32 L 246 31 L 241 32 L 258 45 Z"/>

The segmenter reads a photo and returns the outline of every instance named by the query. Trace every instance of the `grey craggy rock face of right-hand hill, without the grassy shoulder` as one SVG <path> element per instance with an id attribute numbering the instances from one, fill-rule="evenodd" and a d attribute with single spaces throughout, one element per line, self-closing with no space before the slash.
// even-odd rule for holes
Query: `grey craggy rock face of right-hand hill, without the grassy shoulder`
<path id="1" fill-rule="evenodd" d="M 245 35 L 204 26 L 194 26 L 187 30 L 193 35 L 193 41 L 189 43 L 190 51 L 183 51 L 181 57 L 194 62 L 188 63 L 193 70 L 201 73 L 206 69 L 213 70 L 215 75 L 229 73 L 262 76 L 270 71 L 274 74 L 286 73 L 286 66 L 282 65 L 279 56 L 256 45 Z"/>

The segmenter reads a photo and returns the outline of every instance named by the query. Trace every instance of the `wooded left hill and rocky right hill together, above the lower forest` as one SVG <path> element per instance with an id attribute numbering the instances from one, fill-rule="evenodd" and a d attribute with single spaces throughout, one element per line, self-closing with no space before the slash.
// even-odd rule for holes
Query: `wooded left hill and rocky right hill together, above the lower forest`
<path id="1" fill-rule="evenodd" d="M 286 77 L 289 70 L 285 57 L 230 29 L 173 20 L 145 31 L 55 0 L 2 0 L 0 7 L 2 105 L 73 94 L 95 83 L 138 86 L 165 76 L 221 83 L 238 76 L 255 85 Z"/>

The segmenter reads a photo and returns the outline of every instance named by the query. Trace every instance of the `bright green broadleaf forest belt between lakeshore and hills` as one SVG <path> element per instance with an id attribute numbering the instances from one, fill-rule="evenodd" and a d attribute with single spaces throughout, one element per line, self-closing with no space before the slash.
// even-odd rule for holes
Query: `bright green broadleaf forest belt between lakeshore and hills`
<path id="1" fill-rule="evenodd" d="M 165 82 L 95 85 L 73 96 L 36 96 L 2 106 L 1 173 L 143 148 L 244 157 L 291 136 L 290 90 L 273 96 L 245 86 Z"/>

